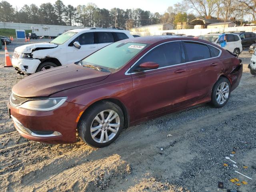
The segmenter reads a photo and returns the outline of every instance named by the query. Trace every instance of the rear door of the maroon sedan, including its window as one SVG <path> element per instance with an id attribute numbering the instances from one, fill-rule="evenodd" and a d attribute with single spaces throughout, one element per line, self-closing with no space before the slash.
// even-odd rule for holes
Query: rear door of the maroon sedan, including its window
<path id="1" fill-rule="evenodd" d="M 209 96 L 223 65 L 218 60 L 220 50 L 200 42 L 184 41 L 188 66 L 188 103 L 198 102 Z"/>

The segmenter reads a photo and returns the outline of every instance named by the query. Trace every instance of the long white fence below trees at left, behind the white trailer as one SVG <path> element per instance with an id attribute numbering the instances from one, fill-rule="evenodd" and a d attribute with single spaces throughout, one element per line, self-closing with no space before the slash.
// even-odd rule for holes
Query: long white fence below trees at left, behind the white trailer
<path id="1" fill-rule="evenodd" d="M 23 29 L 23 30 L 31 30 L 32 26 L 46 26 L 46 27 L 63 27 L 63 28 L 70 28 L 71 26 L 65 25 L 44 25 L 44 24 L 31 24 L 31 23 L 9 23 L 9 22 L 0 22 L 0 29 Z M 84 28 L 83 26 L 77 27 L 72 26 L 72 28 Z"/>

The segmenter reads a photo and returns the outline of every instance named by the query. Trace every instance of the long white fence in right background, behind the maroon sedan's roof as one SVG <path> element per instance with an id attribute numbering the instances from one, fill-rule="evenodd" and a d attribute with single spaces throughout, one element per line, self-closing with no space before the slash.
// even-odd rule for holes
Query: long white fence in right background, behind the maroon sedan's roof
<path id="1" fill-rule="evenodd" d="M 212 29 L 180 29 L 180 30 L 164 30 L 164 31 L 149 31 L 149 32 L 131 32 L 133 35 L 140 36 L 151 36 L 151 35 L 162 35 L 165 32 L 172 32 L 175 34 L 185 34 L 185 35 L 205 35 L 210 32 L 229 32 L 229 31 L 246 31 L 255 32 L 256 26 L 244 26 L 244 27 L 228 27 L 228 28 L 212 28 Z"/>

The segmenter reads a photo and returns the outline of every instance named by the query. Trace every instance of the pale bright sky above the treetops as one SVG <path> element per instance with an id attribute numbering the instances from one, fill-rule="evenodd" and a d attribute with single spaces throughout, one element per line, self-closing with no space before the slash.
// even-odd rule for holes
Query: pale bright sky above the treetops
<path id="1" fill-rule="evenodd" d="M 24 4 L 36 4 L 40 6 L 42 3 L 52 3 L 56 2 L 56 0 L 36 0 L 36 1 L 21 1 L 21 0 L 6 0 L 13 7 L 18 7 L 20 9 Z M 132 9 L 132 8 L 141 8 L 142 10 L 148 10 L 150 12 L 159 12 L 163 14 L 168 6 L 172 6 L 173 4 L 179 2 L 179 0 L 62 0 L 65 5 L 71 4 L 76 7 L 80 5 L 86 5 L 89 2 L 95 3 L 99 8 L 106 8 L 110 10 L 111 8 L 120 8 L 120 9 Z"/>

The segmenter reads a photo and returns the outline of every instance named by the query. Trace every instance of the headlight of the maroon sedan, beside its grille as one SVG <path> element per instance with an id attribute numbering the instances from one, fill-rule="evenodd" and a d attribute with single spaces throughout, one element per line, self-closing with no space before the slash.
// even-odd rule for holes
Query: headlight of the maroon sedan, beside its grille
<path id="1" fill-rule="evenodd" d="M 20 105 L 20 108 L 34 110 L 34 111 L 51 111 L 61 106 L 67 97 L 55 97 L 42 100 L 31 100 Z"/>

